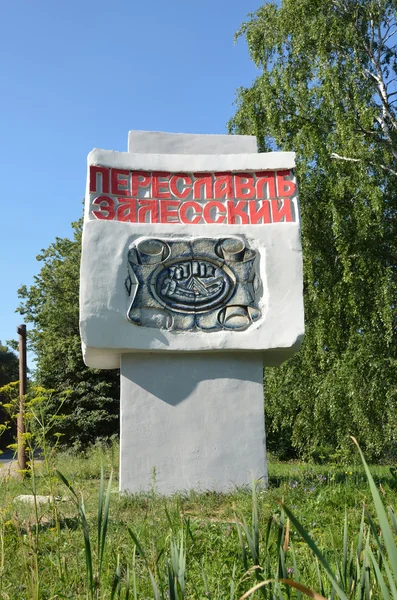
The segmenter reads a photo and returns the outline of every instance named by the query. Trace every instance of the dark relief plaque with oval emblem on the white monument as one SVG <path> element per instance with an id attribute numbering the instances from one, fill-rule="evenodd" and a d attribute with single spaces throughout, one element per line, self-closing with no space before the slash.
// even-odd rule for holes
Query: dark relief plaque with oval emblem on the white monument
<path id="1" fill-rule="evenodd" d="M 138 240 L 128 252 L 127 317 L 173 331 L 244 331 L 260 316 L 258 259 L 241 237 Z"/>

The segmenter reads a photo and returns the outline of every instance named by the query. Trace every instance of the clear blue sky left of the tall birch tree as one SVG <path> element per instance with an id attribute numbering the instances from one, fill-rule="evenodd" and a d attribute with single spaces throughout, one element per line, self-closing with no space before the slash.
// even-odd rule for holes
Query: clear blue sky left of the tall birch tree
<path id="1" fill-rule="evenodd" d="M 130 129 L 226 133 L 258 74 L 234 33 L 259 0 L 12 0 L 0 22 L 0 340 L 17 289 L 82 214 L 86 156 Z M 29 326 L 29 325 L 28 325 Z"/>

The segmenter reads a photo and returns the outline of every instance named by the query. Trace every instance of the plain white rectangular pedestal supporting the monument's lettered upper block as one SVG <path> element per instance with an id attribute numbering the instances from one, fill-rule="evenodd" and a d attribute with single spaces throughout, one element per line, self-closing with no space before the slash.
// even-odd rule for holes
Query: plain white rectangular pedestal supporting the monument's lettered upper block
<path id="1" fill-rule="evenodd" d="M 267 484 L 263 357 L 124 354 L 120 491 Z"/>

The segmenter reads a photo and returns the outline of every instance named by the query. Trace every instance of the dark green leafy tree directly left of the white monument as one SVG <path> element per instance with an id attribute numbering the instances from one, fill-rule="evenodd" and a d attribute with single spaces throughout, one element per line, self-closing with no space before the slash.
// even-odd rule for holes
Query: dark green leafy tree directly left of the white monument
<path id="1" fill-rule="evenodd" d="M 36 382 L 51 388 L 48 414 L 62 414 L 58 433 L 63 444 L 85 446 L 118 432 L 119 372 L 98 371 L 83 363 L 79 335 L 79 270 L 82 220 L 73 223 L 74 237 L 56 238 L 37 257 L 40 272 L 29 288 L 21 287 L 19 312 L 36 355 Z M 60 412 L 59 412 L 60 411 Z"/>

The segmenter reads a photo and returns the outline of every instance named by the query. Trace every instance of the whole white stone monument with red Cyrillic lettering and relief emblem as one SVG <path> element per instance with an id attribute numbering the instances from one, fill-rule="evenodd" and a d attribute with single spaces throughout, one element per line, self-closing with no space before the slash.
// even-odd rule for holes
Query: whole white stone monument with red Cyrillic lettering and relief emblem
<path id="1" fill-rule="evenodd" d="M 93 150 L 85 363 L 121 369 L 120 490 L 266 484 L 263 366 L 299 348 L 295 155 L 253 136 L 131 131 Z"/>

